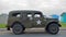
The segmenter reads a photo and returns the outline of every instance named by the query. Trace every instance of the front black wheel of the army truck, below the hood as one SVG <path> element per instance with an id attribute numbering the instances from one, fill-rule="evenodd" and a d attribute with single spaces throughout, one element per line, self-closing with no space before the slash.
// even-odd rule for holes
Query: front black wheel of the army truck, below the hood
<path id="1" fill-rule="evenodd" d="M 59 26 L 56 23 L 52 23 L 46 27 L 46 32 L 52 35 L 56 35 L 59 32 Z"/>

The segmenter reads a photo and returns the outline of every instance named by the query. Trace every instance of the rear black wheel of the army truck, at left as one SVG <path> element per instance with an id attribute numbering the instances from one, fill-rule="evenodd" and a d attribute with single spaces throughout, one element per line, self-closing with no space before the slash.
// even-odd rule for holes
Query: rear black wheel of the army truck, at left
<path id="1" fill-rule="evenodd" d="M 12 27 L 12 32 L 15 34 L 15 35 L 20 35 L 23 33 L 23 26 L 19 23 L 15 23 Z"/>

